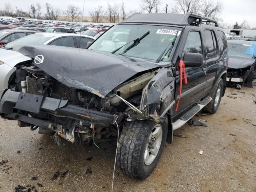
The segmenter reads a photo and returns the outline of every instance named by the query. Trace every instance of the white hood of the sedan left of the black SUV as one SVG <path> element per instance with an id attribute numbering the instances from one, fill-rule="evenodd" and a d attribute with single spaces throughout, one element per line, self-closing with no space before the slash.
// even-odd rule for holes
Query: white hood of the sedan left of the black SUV
<path id="1" fill-rule="evenodd" d="M 0 48 L 0 61 L 4 62 L 12 68 L 14 68 L 14 66 L 20 62 L 28 60 L 31 60 L 31 58 L 24 56 L 19 52 Z"/>

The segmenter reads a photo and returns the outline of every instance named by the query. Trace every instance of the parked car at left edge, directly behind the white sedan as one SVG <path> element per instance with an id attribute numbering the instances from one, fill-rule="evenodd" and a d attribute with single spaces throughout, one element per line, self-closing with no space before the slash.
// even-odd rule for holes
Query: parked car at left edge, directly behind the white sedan
<path id="1" fill-rule="evenodd" d="M 36 31 L 6 29 L 0 30 L 0 46 L 10 43 L 24 36 L 37 33 Z"/>

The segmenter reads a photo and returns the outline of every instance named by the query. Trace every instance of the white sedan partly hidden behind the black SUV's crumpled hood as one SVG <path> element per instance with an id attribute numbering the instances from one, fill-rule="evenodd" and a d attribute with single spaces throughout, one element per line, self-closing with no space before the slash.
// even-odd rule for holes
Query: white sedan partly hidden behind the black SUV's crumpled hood
<path id="1" fill-rule="evenodd" d="M 4 48 L 0 49 L 0 90 L 8 88 L 9 79 L 14 74 L 17 64 L 31 60 L 31 58 L 16 52 L 16 47 L 27 44 L 44 44 L 85 49 L 88 42 L 93 42 L 95 39 L 95 37 L 80 34 L 36 33 L 36 35 L 25 36 L 6 44 Z"/>

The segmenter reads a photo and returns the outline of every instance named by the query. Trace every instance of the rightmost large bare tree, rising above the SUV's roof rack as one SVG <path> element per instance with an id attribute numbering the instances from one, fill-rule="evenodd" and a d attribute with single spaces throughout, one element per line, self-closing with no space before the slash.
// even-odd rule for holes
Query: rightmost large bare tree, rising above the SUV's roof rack
<path id="1" fill-rule="evenodd" d="M 200 14 L 212 19 L 218 19 L 218 13 L 222 11 L 223 4 L 222 1 L 217 0 L 216 2 L 212 0 L 202 0 L 200 5 Z"/>

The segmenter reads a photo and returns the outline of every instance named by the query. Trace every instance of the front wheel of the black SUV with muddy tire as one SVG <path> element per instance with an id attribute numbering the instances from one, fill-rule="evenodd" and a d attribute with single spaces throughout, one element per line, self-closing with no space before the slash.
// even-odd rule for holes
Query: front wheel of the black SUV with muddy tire
<path id="1" fill-rule="evenodd" d="M 122 172 L 136 179 L 150 175 L 164 149 L 167 132 L 167 118 L 160 123 L 153 120 L 126 121 L 117 151 L 117 163 Z"/>

